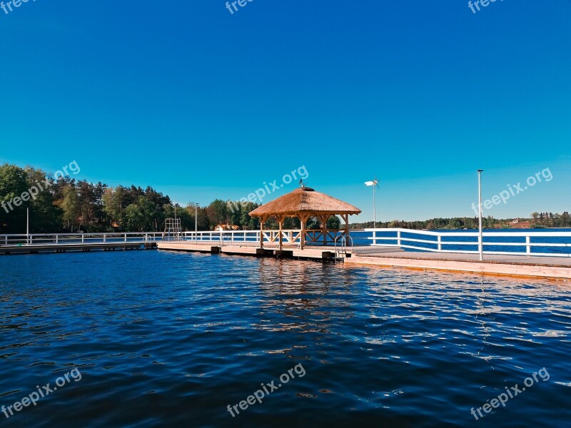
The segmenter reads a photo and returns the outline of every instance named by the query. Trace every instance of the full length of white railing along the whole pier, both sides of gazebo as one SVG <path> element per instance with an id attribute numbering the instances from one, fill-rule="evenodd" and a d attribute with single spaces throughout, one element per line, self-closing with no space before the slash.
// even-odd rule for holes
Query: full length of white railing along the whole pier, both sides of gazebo
<path id="1" fill-rule="evenodd" d="M 333 231 L 335 240 L 337 233 Z M 279 230 L 263 230 L 264 245 L 278 245 Z M 301 230 L 282 230 L 285 245 L 298 245 Z M 365 229 L 368 236 L 362 241 L 370 245 L 398 247 L 410 250 L 432 251 L 436 253 L 478 253 L 477 231 L 433 231 L 410 229 Z M 353 240 L 355 235 L 353 235 Z M 313 240 L 312 238 L 313 237 Z M 183 232 L 178 240 L 196 243 L 232 245 L 246 243 L 259 245 L 259 230 L 228 230 Z M 139 233 L 33 233 L 30 235 L 0 235 L 0 246 L 12 245 L 81 245 L 87 243 L 153 243 L 172 240 L 163 232 Z M 352 241 L 353 241 L 352 240 Z M 305 243 L 323 244 L 318 230 L 306 231 Z M 334 241 L 333 241 L 334 243 Z M 359 244 L 363 245 L 363 243 Z M 571 257 L 571 232 L 569 231 L 485 231 L 483 233 L 485 254 L 503 255 L 542 255 L 552 257 Z"/>

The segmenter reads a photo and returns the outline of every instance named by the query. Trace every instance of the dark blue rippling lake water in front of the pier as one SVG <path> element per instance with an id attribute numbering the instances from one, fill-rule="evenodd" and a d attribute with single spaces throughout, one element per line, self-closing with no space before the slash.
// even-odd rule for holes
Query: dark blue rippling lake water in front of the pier
<path id="1" fill-rule="evenodd" d="M 81 371 L 2 426 L 571 421 L 569 283 L 161 251 L 4 256 L 0 273 L 0 405 Z"/>

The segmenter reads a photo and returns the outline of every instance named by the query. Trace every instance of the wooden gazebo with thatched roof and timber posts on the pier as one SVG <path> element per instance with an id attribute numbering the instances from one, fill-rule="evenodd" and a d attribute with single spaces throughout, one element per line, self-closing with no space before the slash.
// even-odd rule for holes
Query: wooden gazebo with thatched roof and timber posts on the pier
<path id="1" fill-rule="evenodd" d="M 361 210 L 350 203 L 333 198 L 325 193 L 316 192 L 312 188 L 301 187 L 292 192 L 272 200 L 249 213 L 251 217 L 260 218 L 260 247 L 263 248 L 263 223 L 270 217 L 275 217 L 280 225 L 278 237 L 280 250 L 283 248 L 283 220 L 288 217 L 298 218 L 301 223 L 300 248 L 305 246 L 305 223 L 311 217 L 318 218 L 320 222 L 320 235 L 323 243 L 327 243 L 328 236 L 335 240 L 335 235 L 328 234 L 327 220 L 332 215 L 340 215 L 345 221 L 344 235 L 349 235 L 349 215 L 360 214 Z M 297 238 L 296 238 L 297 239 Z"/>

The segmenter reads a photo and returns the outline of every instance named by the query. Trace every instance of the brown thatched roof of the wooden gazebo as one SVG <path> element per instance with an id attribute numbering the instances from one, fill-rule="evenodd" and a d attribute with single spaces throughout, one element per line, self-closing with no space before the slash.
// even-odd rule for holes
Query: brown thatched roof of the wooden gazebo
<path id="1" fill-rule="evenodd" d="M 296 216 L 300 213 L 315 215 L 360 214 L 361 210 L 350 203 L 338 200 L 312 188 L 303 187 L 268 202 L 251 211 L 252 217 L 272 215 Z"/>

